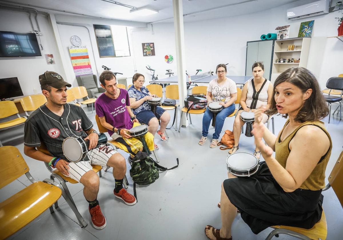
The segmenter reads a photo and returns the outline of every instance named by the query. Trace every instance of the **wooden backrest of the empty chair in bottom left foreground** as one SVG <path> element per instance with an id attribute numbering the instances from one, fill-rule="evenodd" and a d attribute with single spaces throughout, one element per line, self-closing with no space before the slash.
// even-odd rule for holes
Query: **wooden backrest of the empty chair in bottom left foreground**
<path id="1" fill-rule="evenodd" d="M 29 171 L 23 156 L 16 147 L 0 147 L 0 156 L 0 188 Z"/>

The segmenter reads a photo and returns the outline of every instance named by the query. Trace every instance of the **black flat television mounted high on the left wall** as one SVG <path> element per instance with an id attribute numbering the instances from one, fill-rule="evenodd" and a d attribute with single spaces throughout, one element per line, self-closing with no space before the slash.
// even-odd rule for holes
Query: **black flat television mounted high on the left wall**
<path id="1" fill-rule="evenodd" d="M 42 56 L 36 34 L 0 31 L 0 57 Z"/>

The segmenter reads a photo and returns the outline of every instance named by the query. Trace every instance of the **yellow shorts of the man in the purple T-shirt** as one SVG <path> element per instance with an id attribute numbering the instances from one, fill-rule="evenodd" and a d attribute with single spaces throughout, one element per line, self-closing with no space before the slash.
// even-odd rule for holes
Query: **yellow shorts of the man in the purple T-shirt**
<path id="1" fill-rule="evenodd" d="M 137 122 L 133 123 L 133 127 L 136 127 L 138 125 L 141 124 Z M 147 132 L 144 135 L 144 139 L 149 150 L 154 151 L 154 135 L 152 135 L 150 132 Z M 135 137 L 130 137 L 129 139 L 120 137 L 117 138 L 115 141 L 118 143 L 120 149 L 123 149 L 125 152 L 130 153 L 131 156 L 134 156 L 138 151 L 143 150 L 142 142 Z"/>

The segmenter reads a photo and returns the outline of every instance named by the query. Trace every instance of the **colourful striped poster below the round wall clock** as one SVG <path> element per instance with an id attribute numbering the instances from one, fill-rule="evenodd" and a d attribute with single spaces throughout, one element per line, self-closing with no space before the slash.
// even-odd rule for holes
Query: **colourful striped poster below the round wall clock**
<path id="1" fill-rule="evenodd" d="M 69 53 L 76 76 L 93 74 L 86 46 L 69 46 Z"/>

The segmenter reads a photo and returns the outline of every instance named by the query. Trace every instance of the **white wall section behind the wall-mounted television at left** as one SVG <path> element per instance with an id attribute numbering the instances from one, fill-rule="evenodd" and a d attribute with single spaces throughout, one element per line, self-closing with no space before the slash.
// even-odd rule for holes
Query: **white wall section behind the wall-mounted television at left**
<path id="1" fill-rule="evenodd" d="M 32 21 L 38 30 L 32 15 Z M 40 37 L 44 50 L 40 57 L 2 57 L 0 58 L 0 78 L 18 77 L 24 95 L 34 93 L 34 88 L 41 92 L 38 76 L 45 71 L 62 71 L 61 59 L 58 54 L 57 45 L 53 37 L 52 28 L 46 16 L 38 15 Z M 9 12 L 0 10 L 0 31 L 24 32 L 33 31 L 27 13 Z M 38 41 L 39 42 L 39 41 Z M 44 54 L 52 53 L 56 64 L 48 65 Z"/>

